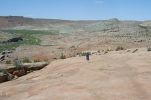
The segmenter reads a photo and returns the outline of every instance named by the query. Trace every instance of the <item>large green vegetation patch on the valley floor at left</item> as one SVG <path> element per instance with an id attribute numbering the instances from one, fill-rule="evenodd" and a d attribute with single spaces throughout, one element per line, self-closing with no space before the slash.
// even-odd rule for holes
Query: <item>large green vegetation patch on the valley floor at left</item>
<path id="1" fill-rule="evenodd" d="M 20 45 L 27 44 L 27 45 L 40 45 L 41 40 L 40 38 L 36 37 L 35 35 L 55 35 L 58 34 L 58 31 L 40 31 L 40 30 L 0 30 L 2 32 L 7 32 L 13 34 L 16 37 L 22 37 L 23 41 L 18 41 L 14 43 L 0 43 L 0 52 L 4 50 L 12 50 L 17 48 Z"/>

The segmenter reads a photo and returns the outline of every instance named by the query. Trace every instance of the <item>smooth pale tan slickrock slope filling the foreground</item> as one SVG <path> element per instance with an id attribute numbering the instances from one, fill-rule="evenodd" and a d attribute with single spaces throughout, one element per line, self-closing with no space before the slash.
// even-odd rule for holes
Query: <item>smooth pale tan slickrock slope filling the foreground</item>
<path id="1" fill-rule="evenodd" d="M 132 51 L 53 61 L 0 84 L 0 100 L 151 100 L 151 52 Z"/>

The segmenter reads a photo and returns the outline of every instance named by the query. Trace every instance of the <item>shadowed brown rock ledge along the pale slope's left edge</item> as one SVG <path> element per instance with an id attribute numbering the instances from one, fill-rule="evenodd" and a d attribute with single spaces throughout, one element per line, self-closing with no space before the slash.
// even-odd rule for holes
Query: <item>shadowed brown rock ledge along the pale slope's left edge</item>
<path id="1" fill-rule="evenodd" d="M 0 83 L 24 76 L 32 71 L 40 70 L 47 65 L 48 62 L 23 63 L 20 68 L 10 67 L 0 70 Z"/>

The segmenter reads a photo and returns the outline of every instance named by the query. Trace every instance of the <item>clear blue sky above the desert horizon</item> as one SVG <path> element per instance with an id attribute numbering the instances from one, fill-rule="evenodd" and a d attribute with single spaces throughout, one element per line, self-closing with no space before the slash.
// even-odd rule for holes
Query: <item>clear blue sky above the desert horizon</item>
<path id="1" fill-rule="evenodd" d="M 151 0 L 0 0 L 0 16 L 151 20 Z"/>

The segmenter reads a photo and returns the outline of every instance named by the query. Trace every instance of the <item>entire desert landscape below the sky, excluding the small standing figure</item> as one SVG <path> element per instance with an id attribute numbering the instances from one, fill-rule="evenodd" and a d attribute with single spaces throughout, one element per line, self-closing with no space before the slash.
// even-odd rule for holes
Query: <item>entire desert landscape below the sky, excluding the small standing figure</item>
<path id="1" fill-rule="evenodd" d="M 0 100 L 151 100 L 150 82 L 150 20 L 0 17 Z"/>

